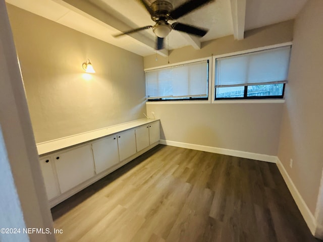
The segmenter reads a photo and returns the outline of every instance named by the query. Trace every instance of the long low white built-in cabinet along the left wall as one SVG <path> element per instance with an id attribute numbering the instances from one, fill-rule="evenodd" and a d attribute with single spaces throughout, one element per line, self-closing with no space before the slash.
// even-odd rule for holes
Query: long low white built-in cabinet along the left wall
<path id="1" fill-rule="evenodd" d="M 108 135 L 97 137 L 95 134 L 93 140 L 79 139 L 79 144 L 75 144 L 73 140 L 73 148 L 67 148 L 69 146 L 66 144 L 58 145 L 57 141 L 41 144 L 40 154 L 44 156 L 40 159 L 40 166 L 49 205 L 57 205 L 107 175 L 112 169 L 130 161 L 130 157 L 136 158 L 148 147 L 157 145 L 160 138 L 159 121 L 138 122 L 130 128 L 127 125 L 127 129 L 124 129 L 124 125 L 122 129 L 113 127 Z M 52 148 L 50 150 L 49 146 L 61 148 L 60 151 L 55 151 Z"/>

